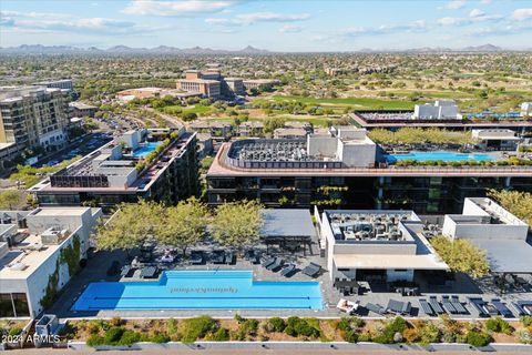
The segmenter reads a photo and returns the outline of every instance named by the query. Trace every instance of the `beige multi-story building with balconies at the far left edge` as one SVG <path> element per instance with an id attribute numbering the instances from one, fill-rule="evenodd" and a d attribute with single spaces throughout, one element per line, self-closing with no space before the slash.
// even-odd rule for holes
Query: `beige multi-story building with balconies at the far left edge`
<path id="1" fill-rule="evenodd" d="M 42 146 L 54 151 L 68 139 L 69 94 L 43 87 L 0 88 L 0 143 L 12 143 L 17 153 Z"/>

